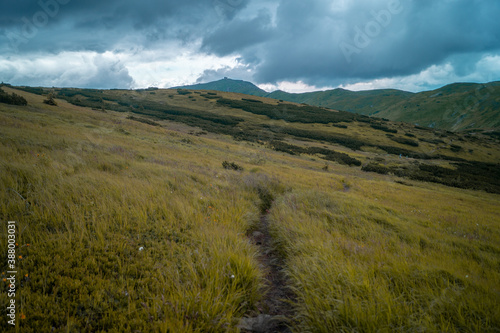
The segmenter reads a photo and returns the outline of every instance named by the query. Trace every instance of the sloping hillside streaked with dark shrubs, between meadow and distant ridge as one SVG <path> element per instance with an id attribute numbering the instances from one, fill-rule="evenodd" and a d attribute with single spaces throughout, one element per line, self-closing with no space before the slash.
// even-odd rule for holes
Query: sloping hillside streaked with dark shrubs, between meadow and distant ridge
<path id="1" fill-rule="evenodd" d="M 19 89 L 81 107 L 128 113 L 143 122 L 175 121 L 290 154 L 319 155 L 345 165 L 365 164 L 366 170 L 383 174 L 500 193 L 497 161 L 490 157 L 498 154 L 490 146 L 496 143 L 498 132 L 458 134 L 239 93 L 180 88 Z M 383 163 L 377 162 L 384 154 Z M 457 182 L 456 177 L 462 180 Z"/>

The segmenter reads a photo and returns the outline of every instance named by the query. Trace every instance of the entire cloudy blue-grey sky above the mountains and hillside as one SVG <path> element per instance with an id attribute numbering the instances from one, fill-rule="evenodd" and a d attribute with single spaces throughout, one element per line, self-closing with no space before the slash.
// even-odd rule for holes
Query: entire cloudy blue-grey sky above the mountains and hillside
<path id="1" fill-rule="evenodd" d="M 498 0 L 0 0 L 0 81 L 273 91 L 500 80 Z"/>

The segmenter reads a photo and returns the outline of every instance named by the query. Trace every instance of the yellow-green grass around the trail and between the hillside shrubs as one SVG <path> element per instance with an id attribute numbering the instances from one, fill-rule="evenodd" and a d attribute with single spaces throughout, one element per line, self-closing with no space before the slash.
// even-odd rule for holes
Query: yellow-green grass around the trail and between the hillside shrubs
<path id="1" fill-rule="evenodd" d="M 230 133 L 200 134 L 203 127 L 186 122 L 148 124 L 129 119 L 131 112 L 62 99 L 50 106 L 43 96 L 18 93 L 28 106 L 0 103 L 4 290 L 7 221 L 16 221 L 18 268 L 16 326 L 2 310 L 1 330 L 243 331 L 241 318 L 258 314 L 266 298 L 261 249 L 248 237 L 263 208 L 296 296 L 293 332 L 500 330 L 499 194 L 363 172 Z M 185 106 L 188 98 L 173 100 Z M 215 101 L 196 99 L 193 110 L 218 112 Z M 227 108 L 218 114 L 264 121 Z M 365 141 L 369 133 L 373 142 L 390 141 L 365 127 L 352 131 Z M 379 154 L 376 147 L 294 140 L 287 142 L 334 147 L 364 164 Z M 476 160 L 497 162 L 491 142 L 462 145 L 467 150 L 449 156 L 474 150 Z M 397 155 L 383 159 L 411 164 Z M 243 170 L 225 169 L 223 161 Z M 8 301 L 1 292 L 0 303 Z"/>

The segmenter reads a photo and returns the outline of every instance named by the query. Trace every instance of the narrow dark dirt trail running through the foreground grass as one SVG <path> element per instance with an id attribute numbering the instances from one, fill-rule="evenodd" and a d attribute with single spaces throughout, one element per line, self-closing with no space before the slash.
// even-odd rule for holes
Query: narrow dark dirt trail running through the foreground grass
<path id="1" fill-rule="evenodd" d="M 243 318 L 240 322 L 242 332 L 283 333 L 291 332 L 287 323 L 293 317 L 291 301 L 294 295 L 288 288 L 288 281 L 282 272 L 283 259 L 272 247 L 269 222 L 266 214 L 261 215 L 257 230 L 249 235 L 251 242 L 260 248 L 258 260 L 266 272 L 267 290 L 258 304 L 260 312 L 254 317 Z"/>

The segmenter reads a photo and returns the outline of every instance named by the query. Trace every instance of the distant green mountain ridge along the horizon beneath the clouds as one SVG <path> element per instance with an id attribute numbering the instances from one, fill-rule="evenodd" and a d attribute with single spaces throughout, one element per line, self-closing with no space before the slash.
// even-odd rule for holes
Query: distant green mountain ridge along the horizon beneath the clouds
<path id="1" fill-rule="evenodd" d="M 305 103 L 450 131 L 500 129 L 500 81 L 453 83 L 419 93 L 397 89 L 268 93 L 251 82 L 224 78 L 176 88 L 216 90 Z"/>

